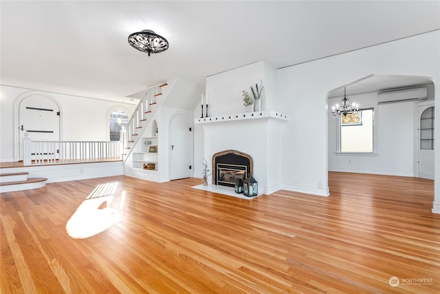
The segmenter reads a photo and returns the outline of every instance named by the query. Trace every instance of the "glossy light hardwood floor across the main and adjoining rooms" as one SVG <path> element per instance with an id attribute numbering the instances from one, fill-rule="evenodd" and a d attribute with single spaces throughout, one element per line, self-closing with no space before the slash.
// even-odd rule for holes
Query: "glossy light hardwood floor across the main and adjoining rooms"
<path id="1" fill-rule="evenodd" d="M 191 188 L 200 181 L 1 193 L 1 293 L 440 293 L 432 180 L 331 172 L 328 198 L 254 200 Z M 118 182 L 120 221 L 69 237 L 69 218 L 106 182 Z"/>

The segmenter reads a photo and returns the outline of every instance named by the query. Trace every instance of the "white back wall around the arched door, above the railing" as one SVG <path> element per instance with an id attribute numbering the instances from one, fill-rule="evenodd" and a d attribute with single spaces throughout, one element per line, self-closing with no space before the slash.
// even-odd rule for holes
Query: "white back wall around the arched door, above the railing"
<path id="1" fill-rule="evenodd" d="M 17 148 L 17 143 L 14 142 L 14 132 L 18 131 L 14 129 L 13 122 L 17 120 L 18 124 L 17 100 L 27 92 L 35 91 L 0 85 L 1 162 L 17 160 L 17 158 L 14 158 L 14 149 Z M 61 105 L 62 140 L 108 140 L 109 128 L 107 120 L 109 118 L 107 113 L 109 109 L 119 105 L 132 112 L 135 108 L 135 105 L 127 103 L 116 103 L 43 91 L 38 91 L 38 93 L 54 98 Z"/>

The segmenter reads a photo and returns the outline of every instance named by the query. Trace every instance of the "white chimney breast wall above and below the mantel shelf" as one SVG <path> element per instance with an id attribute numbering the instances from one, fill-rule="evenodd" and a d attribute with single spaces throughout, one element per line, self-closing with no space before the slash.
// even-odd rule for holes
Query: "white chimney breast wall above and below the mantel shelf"
<path id="1" fill-rule="evenodd" d="M 262 108 L 279 109 L 276 70 L 265 61 L 259 61 L 206 78 L 209 116 L 243 114 L 242 91 L 263 82 Z M 200 104 L 194 111 L 201 116 Z M 205 112 L 203 112 L 203 116 Z M 281 129 L 283 120 L 259 118 L 252 120 L 222 121 L 195 125 L 195 176 L 201 176 L 205 158 L 212 171 L 212 156 L 226 149 L 250 154 L 254 159 L 254 177 L 259 181 L 259 193 L 281 189 Z M 211 178 L 210 178 L 211 180 Z"/>

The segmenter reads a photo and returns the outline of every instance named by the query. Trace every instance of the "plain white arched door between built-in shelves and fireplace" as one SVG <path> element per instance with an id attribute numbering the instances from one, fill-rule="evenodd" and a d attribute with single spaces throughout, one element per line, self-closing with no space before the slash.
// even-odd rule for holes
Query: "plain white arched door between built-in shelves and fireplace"
<path id="1" fill-rule="evenodd" d="M 191 176 L 191 131 L 190 123 L 182 114 L 177 114 L 170 123 L 170 180 Z"/>

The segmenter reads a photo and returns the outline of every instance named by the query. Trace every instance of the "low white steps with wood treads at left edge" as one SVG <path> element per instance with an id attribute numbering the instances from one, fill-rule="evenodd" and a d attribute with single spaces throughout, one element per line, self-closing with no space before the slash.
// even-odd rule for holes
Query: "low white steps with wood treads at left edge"
<path id="1" fill-rule="evenodd" d="M 0 193 L 45 187 L 47 178 L 28 178 L 28 172 L 0 174 Z"/>

